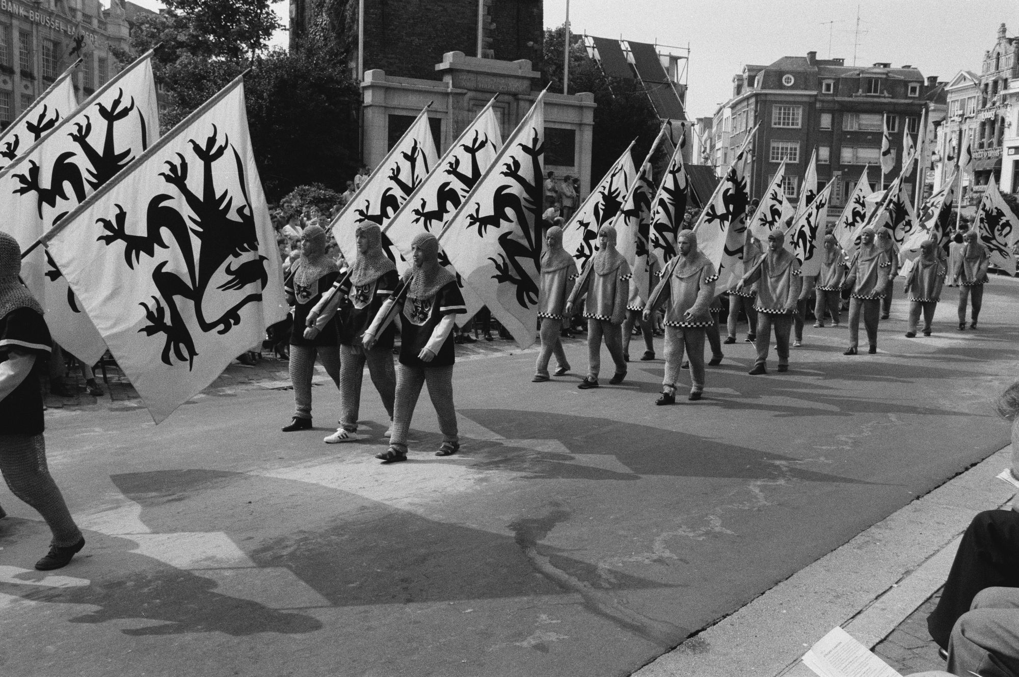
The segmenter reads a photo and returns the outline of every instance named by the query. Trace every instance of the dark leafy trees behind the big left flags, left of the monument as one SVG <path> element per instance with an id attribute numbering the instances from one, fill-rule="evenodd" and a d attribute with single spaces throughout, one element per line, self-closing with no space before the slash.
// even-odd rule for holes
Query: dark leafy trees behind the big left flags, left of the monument
<path id="1" fill-rule="evenodd" d="M 156 47 L 153 69 L 165 96 L 168 132 L 245 72 L 248 122 L 270 201 L 294 187 L 341 188 L 358 165 L 357 85 L 332 50 L 308 44 L 266 51 L 278 28 L 268 0 L 166 0 L 167 10 L 140 17 L 127 63 Z"/>

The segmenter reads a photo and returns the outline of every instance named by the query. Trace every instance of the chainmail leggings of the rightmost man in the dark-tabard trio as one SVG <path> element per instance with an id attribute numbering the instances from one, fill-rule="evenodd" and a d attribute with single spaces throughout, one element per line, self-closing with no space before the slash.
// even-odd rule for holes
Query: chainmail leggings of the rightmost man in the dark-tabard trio
<path id="1" fill-rule="evenodd" d="M 389 446 L 407 452 L 407 436 L 411 430 L 414 408 L 421 387 L 428 384 L 428 397 L 439 419 L 442 441 L 460 441 L 457 410 L 452 405 L 452 367 L 409 367 L 396 365 L 396 401 L 392 411 L 392 436 Z"/>

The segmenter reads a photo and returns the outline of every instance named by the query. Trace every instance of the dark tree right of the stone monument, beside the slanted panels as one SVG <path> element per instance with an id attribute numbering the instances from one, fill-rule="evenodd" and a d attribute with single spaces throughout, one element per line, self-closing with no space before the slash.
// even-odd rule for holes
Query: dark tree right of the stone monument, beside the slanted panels
<path id="1" fill-rule="evenodd" d="M 565 27 L 545 31 L 545 81 L 550 92 L 562 91 Z M 569 93 L 594 94 L 594 131 L 591 149 L 591 186 L 597 185 L 635 138 L 635 162 L 651 149 L 661 122 L 640 83 L 607 77 L 587 54 L 583 42 L 571 36 Z M 678 140 L 677 140 L 678 141 Z"/>

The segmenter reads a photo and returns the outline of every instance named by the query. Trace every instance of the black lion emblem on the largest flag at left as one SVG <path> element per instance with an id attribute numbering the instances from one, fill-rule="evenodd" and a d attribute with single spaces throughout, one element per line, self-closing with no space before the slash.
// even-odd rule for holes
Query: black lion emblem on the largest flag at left
<path id="1" fill-rule="evenodd" d="M 169 186 L 184 198 L 191 213 L 182 214 L 172 206 L 177 196 L 160 194 L 149 201 L 148 210 L 144 216 L 146 235 L 128 235 L 125 223 L 128 217 L 132 222 L 141 220 L 141 215 L 128 215 L 123 207 L 116 205 L 117 213 L 112 221 L 107 218 L 98 219 L 98 223 L 106 230 L 97 240 L 107 246 L 115 242 L 124 243 L 124 262 L 131 269 L 141 261 L 142 255 L 154 257 L 156 248 L 170 249 L 175 247 L 183 258 L 187 268 L 186 277 L 176 272 L 166 270 L 167 261 L 156 265 L 152 279 L 159 290 L 159 296 L 152 298 L 152 306 L 140 304 L 145 309 L 145 317 L 149 322 L 139 331 L 154 336 L 164 334 L 163 362 L 172 365 L 175 358 L 179 362 L 186 361 L 189 369 L 194 368 L 198 351 L 192 336 L 192 327 L 180 313 L 180 304 L 190 303 L 198 327 L 203 332 L 216 330 L 220 334 L 227 333 L 240 323 L 240 309 L 251 303 L 262 300 L 262 291 L 269 283 L 265 256 L 252 258 L 250 253 L 259 251 L 258 228 L 251 201 L 247 192 L 245 162 L 236 149 L 230 145 L 229 138 L 224 135 L 223 143 L 218 143 L 218 132 L 213 125 L 212 133 L 202 146 L 195 140 L 190 140 L 192 153 L 202 163 L 203 190 L 196 195 L 187 187 L 190 165 L 187 158 L 177 153 L 177 161 L 167 160 L 167 169 L 159 175 Z M 216 192 L 214 165 L 230 150 L 236 163 L 238 183 L 243 200 L 236 208 L 233 207 L 234 197 L 229 191 L 220 194 Z M 227 160 L 228 162 L 228 160 Z M 170 204 L 167 204 L 170 203 Z M 163 230 L 167 230 L 170 239 L 164 239 Z M 203 301 L 207 299 L 209 285 L 219 273 L 226 280 L 215 287 L 223 292 L 240 291 L 249 284 L 257 282 L 258 291 L 245 295 L 232 304 L 218 317 L 206 317 Z M 213 292 L 213 294 L 215 294 Z M 172 356 L 171 356 L 172 353 Z"/>

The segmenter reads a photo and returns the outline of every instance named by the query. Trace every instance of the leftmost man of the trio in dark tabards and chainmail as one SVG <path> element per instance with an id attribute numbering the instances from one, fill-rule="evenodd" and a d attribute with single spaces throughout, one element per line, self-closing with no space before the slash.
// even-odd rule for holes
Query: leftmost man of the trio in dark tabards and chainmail
<path id="1" fill-rule="evenodd" d="M 290 333 L 290 382 L 297 405 L 293 420 L 282 427 L 283 432 L 309 430 L 312 427 L 312 376 L 315 360 L 322 361 L 325 371 L 339 387 L 339 348 L 336 346 L 336 325 L 330 322 L 314 338 L 306 338 L 300 327 L 307 324 L 308 313 L 322 293 L 339 276 L 336 262 L 326 256 L 325 230 L 311 223 L 301 233 L 301 258 L 290 268 L 283 282 L 286 301 L 293 307 L 294 330 Z"/>

